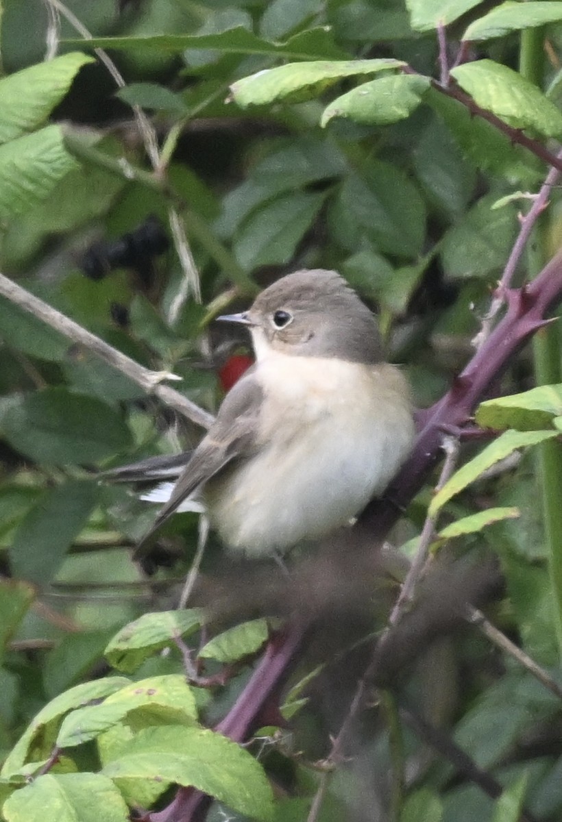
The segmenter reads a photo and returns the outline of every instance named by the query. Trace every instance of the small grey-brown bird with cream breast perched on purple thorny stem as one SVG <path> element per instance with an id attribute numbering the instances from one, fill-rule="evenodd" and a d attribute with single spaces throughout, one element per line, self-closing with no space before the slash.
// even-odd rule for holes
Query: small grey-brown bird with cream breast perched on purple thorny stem
<path id="1" fill-rule="evenodd" d="M 225 547 L 278 556 L 348 523 L 410 450 L 406 380 L 383 361 L 373 314 L 335 271 L 287 275 L 248 311 L 218 319 L 248 327 L 256 363 L 225 396 L 137 554 L 195 495 Z"/>

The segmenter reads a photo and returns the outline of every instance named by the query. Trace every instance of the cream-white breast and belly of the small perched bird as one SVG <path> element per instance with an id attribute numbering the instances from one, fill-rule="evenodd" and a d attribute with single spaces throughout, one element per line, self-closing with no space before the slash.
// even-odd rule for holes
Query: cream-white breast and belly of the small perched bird
<path id="1" fill-rule="evenodd" d="M 214 527 L 248 554 L 283 551 L 345 524 L 387 485 L 413 436 L 397 369 L 276 355 L 252 455 L 207 484 Z"/>

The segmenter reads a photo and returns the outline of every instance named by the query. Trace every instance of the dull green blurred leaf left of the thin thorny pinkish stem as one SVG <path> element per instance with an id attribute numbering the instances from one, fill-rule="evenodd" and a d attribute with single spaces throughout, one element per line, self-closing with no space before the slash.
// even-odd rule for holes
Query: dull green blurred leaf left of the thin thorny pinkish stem
<path id="1" fill-rule="evenodd" d="M 453 279 L 486 277 L 504 266 L 517 232 L 514 205 L 492 210 L 496 197 L 488 194 L 445 234 L 441 258 Z"/>

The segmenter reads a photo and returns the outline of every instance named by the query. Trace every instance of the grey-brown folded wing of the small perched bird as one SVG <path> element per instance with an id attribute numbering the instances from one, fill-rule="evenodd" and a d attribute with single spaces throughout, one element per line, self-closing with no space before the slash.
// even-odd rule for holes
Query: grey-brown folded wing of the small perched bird
<path id="1" fill-rule="evenodd" d="M 187 468 L 174 486 L 170 500 L 160 510 L 151 530 L 137 546 L 135 556 L 142 553 L 146 541 L 178 509 L 183 500 L 233 460 L 252 453 L 258 433 L 261 405 L 262 388 L 254 369 L 250 368 L 226 395 L 215 422 L 193 452 Z"/>

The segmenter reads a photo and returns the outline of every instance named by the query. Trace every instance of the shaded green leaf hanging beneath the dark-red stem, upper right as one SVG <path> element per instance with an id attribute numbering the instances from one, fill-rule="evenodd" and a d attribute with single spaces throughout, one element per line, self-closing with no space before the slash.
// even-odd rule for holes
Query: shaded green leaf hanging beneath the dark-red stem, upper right
<path id="1" fill-rule="evenodd" d="M 520 145 L 513 145 L 509 137 L 480 117 L 474 117 L 467 107 L 430 88 L 425 95 L 439 115 L 462 154 L 476 169 L 489 171 L 509 182 L 534 185 L 541 178 L 539 164 L 532 154 Z"/>

